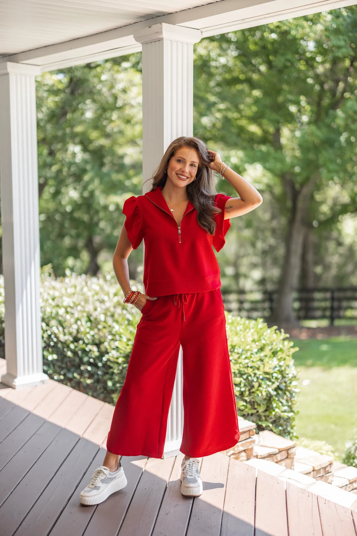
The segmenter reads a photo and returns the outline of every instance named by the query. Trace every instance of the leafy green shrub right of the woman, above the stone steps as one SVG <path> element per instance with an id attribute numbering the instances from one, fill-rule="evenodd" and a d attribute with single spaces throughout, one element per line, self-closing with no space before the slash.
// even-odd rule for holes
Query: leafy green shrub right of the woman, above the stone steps
<path id="1" fill-rule="evenodd" d="M 262 320 L 226 313 L 238 414 L 285 437 L 294 436 L 297 371 L 288 335 Z"/>

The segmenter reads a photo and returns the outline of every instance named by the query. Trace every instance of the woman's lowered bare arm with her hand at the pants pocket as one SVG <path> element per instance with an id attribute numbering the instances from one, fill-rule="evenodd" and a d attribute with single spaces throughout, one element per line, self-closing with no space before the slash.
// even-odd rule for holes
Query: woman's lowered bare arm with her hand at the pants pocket
<path id="1" fill-rule="evenodd" d="M 125 218 L 126 219 L 126 218 Z M 125 222 L 125 220 L 124 220 Z M 118 280 L 118 283 L 121 287 L 121 290 L 124 292 L 124 296 L 131 291 L 130 288 L 130 279 L 129 279 L 129 267 L 128 267 L 128 256 L 133 251 L 132 244 L 128 239 L 128 235 L 125 228 L 125 223 L 121 228 L 117 247 L 113 255 L 113 269 L 115 277 Z M 140 294 L 136 302 L 134 303 L 135 307 L 141 311 L 147 300 L 146 294 Z"/>

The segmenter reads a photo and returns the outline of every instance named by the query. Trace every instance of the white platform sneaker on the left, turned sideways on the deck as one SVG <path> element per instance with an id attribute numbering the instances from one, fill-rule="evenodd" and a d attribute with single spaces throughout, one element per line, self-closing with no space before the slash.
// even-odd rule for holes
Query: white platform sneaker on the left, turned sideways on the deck
<path id="1" fill-rule="evenodd" d="M 80 493 L 81 504 L 92 505 L 99 504 L 109 495 L 118 492 L 127 485 L 127 480 L 124 474 L 124 469 L 119 463 L 117 471 L 111 473 L 108 467 L 101 465 L 98 467 L 92 477 L 90 483 Z"/>

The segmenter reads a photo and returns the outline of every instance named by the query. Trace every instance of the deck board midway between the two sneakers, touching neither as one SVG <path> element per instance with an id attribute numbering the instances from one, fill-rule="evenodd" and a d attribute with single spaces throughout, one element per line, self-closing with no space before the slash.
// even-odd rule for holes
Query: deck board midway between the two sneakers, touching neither
<path id="1" fill-rule="evenodd" d="M 175 458 L 149 458 L 119 536 L 150 536 L 166 490 Z"/>

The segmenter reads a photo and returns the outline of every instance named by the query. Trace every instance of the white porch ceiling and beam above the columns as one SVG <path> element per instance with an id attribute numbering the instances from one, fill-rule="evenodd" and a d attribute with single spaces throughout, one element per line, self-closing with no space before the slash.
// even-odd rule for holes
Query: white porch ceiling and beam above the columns
<path id="1" fill-rule="evenodd" d="M 353 5 L 356 0 L 0 0 L 0 63 L 41 71 L 141 50 L 133 33 L 158 23 L 203 36 Z"/>

